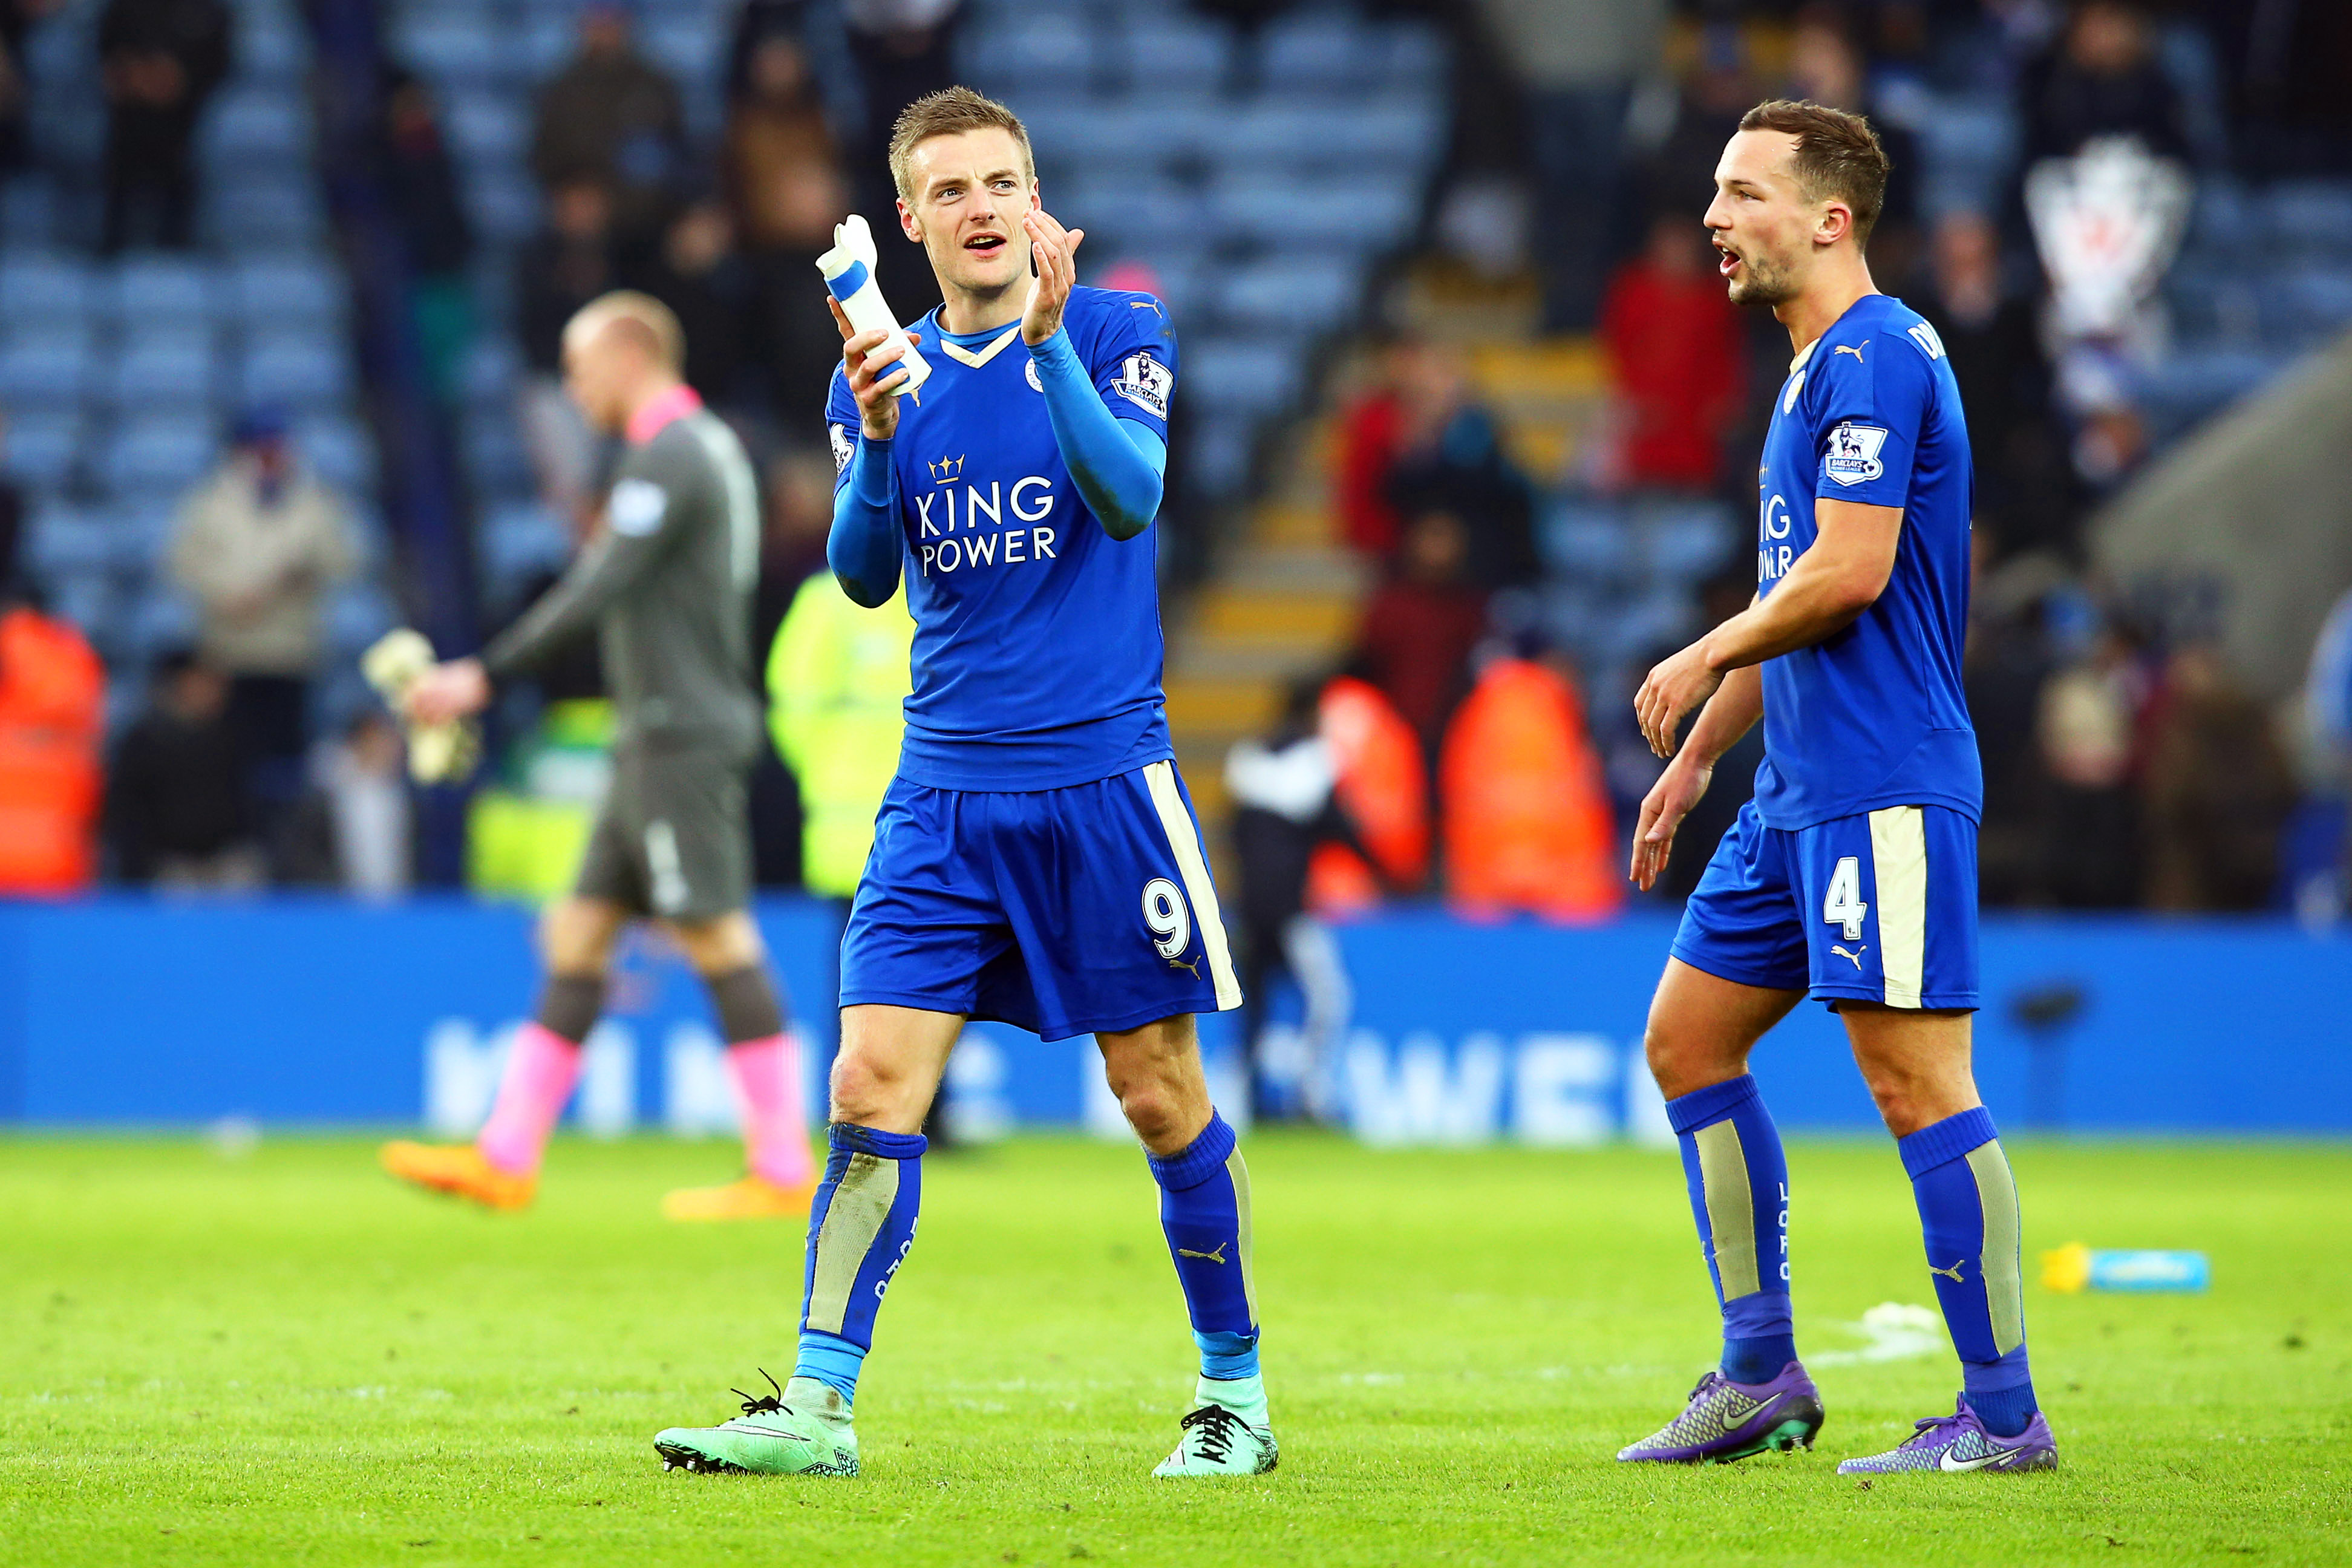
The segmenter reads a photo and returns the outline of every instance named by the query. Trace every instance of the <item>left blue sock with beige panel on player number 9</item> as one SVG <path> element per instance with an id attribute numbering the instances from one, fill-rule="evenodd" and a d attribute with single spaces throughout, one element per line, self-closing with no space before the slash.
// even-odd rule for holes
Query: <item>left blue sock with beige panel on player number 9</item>
<path id="1" fill-rule="evenodd" d="M 800 1359 L 795 1378 L 816 1378 L 858 1396 L 858 1368 L 875 1342 L 875 1314 L 891 1276 L 915 1246 L 922 1206 L 920 1133 L 880 1133 L 835 1121 L 826 1140 L 826 1180 L 809 1213 L 809 1262 L 802 1279 Z"/>

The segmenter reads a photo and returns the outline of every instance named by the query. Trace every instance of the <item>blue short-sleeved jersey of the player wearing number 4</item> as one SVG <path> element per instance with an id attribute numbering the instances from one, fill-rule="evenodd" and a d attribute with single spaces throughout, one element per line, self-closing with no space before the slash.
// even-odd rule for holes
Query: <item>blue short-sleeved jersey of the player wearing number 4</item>
<path id="1" fill-rule="evenodd" d="M 1813 545 L 1816 501 L 1903 508 L 1886 592 L 1853 625 L 1764 661 L 1766 827 L 1882 806 L 1983 813 L 1962 686 L 1973 475 L 1943 341 L 1903 301 L 1865 294 L 1790 367 L 1764 435 L 1757 592 Z"/>

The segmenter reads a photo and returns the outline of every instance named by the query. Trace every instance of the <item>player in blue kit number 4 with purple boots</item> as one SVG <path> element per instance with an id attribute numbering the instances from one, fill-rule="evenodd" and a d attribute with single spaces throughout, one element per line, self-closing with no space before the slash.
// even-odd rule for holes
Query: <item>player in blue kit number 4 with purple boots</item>
<path id="1" fill-rule="evenodd" d="M 1757 719 L 1764 764 L 1691 893 L 1644 1041 L 1724 1356 L 1621 1460 L 1729 1462 L 1820 1432 L 1790 1319 L 1788 1161 L 1748 1074 L 1755 1041 L 1811 994 L 1844 1020 L 1896 1135 L 1962 1361 L 1952 1415 L 1839 1474 L 2058 1462 L 2025 1366 L 2018 1192 L 1969 1070 L 1983 799 L 1959 675 L 1969 430 L 1936 329 L 1870 282 L 1884 193 L 1870 125 L 1818 103 L 1748 110 L 1715 169 L 1705 221 L 1731 301 L 1771 306 L 1797 357 L 1764 437 L 1757 599 L 1635 698 L 1670 757 L 1635 830 L 1644 889 Z"/>

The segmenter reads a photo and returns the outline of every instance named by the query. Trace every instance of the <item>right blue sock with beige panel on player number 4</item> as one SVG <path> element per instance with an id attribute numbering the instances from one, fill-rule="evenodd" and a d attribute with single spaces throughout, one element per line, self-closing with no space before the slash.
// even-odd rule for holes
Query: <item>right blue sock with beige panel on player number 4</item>
<path id="1" fill-rule="evenodd" d="M 1964 1110 L 1898 1138 L 1896 1150 L 1919 1201 L 1926 1267 L 1969 1408 L 1992 1436 L 2016 1436 L 2039 1406 L 2025 1366 L 2018 1185 L 1992 1114 Z"/>

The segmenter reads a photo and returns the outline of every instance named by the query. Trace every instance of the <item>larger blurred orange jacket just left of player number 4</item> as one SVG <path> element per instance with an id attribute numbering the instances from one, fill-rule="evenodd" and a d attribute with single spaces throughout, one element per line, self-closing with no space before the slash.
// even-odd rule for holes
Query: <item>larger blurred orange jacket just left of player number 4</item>
<path id="1" fill-rule="evenodd" d="M 1446 729 L 1439 792 L 1446 896 L 1465 914 L 1599 919 L 1625 900 L 1602 762 L 1557 670 L 1486 665 Z"/>

